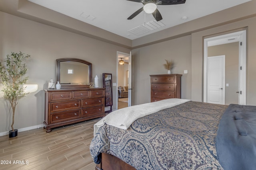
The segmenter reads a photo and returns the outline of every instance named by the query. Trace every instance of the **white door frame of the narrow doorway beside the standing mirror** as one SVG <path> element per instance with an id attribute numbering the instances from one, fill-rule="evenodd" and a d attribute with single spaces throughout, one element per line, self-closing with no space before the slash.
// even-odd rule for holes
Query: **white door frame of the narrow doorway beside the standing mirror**
<path id="1" fill-rule="evenodd" d="M 118 61 L 118 56 L 119 55 L 125 55 L 128 57 L 129 59 L 129 66 L 128 66 L 128 72 L 129 72 L 129 78 L 128 78 L 128 86 L 129 88 L 132 86 L 132 70 L 131 70 L 131 67 L 132 67 L 132 52 L 130 51 L 130 54 L 129 53 L 124 53 L 124 52 L 120 52 L 120 51 L 117 51 L 116 52 L 116 88 L 117 88 L 117 91 L 118 91 L 118 64 L 119 64 L 119 61 Z M 128 107 L 131 106 L 131 103 L 132 103 L 132 92 L 131 92 L 131 89 L 130 88 L 128 90 Z M 116 109 L 118 109 L 118 92 L 116 93 Z"/>

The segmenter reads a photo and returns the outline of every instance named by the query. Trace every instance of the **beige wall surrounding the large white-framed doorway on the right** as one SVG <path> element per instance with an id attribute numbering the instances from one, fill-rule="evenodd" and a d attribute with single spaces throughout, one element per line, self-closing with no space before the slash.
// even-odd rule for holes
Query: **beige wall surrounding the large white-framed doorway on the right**
<path id="1" fill-rule="evenodd" d="M 212 29 L 206 29 L 192 33 L 192 82 L 191 99 L 202 102 L 203 98 L 203 39 L 214 34 L 225 34 L 230 31 L 247 29 L 247 82 L 246 82 L 246 104 L 256 105 L 256 17 L 229 23 Z"/>

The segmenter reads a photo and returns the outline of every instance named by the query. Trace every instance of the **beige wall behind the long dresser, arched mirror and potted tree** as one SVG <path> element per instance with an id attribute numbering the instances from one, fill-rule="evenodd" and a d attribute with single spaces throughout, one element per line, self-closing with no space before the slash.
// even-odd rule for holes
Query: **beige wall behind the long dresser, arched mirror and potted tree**
<path id="1" fill-rule="evenodd" d="M 93 78 L 98 75 L 102 87 L 102 73 L 112 73 L 116 82 L 116 51 L 129 53 L 124 47 L 102 42 L 0 12 L 0 60 L 10 52 L 30 54 L 28 84 L 38 84 L 38 90 L 21 99 L 14 128 L 42 125 L 44 121 L 44 91 L 50 78 L 56 80 L 56 59 L 72 57 L 92 63 Z M 94 80 L 94 79 L 93 79 Z M 113 86 L 113 101 L 117 89 Z M 115 102 L 113 109 L 116 109 Z M 6 114 L 8 112 L 8 114 Z M 10 111 L 0 93 L 0 132 L 10 130 Z"/>

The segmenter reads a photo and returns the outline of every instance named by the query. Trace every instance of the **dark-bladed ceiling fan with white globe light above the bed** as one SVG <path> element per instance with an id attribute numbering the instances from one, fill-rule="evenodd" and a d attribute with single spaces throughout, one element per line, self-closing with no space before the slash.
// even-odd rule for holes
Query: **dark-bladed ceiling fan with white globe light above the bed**
<path id="1" fill-rule="evenodd" d="M 186 0 L 128 0 L 133 2 L 141 2 L 144 6 L 134 12 L 131 16 L 127 18 L 127 20 L 132 20 L 135 16 L 140 14 L 143 10 L 148 13 L 152 14 L 156 21 L 162 20 L 162 15 L 158 11 L 156 5 L 176 5 L 176 4 L 184 4 Z"/>

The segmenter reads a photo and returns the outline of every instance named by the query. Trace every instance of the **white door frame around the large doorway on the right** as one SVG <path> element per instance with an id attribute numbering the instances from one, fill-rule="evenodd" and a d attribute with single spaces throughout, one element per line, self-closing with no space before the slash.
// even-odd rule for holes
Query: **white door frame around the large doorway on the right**
<path id="1" fill-rule="evenodd" d="M 208 44 L 213 41 L 219 42 L 218 45 L 225 44 L 222 43 L 222 40 L 228 38 L 232 39 L 232 37 L 237 38 L 237 41 L 232 42 L 239 42 L 238 104 L 246 105 L 246 30 L 204 39 L 204 102 L 207 101 Z M 242 43 L 242 45 L 240 43 Z M 240 68 L 242 68 L 242 70 Z"/>

